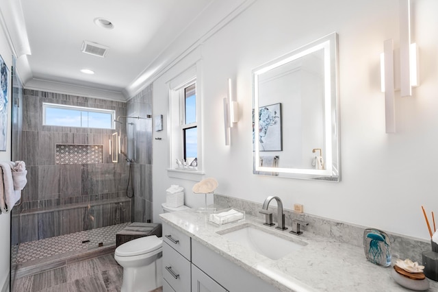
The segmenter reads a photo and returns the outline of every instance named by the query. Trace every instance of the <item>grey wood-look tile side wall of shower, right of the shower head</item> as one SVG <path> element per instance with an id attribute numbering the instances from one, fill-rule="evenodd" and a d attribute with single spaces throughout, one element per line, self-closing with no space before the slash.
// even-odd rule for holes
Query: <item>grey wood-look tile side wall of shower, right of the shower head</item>
<path id="1" fill-rule="evenodd" d="M 152 84 L 127 102 L 127 115 L 146 117 L 152 114 Z M 128 141 L 136 141 L 135 150 L 130 148 L 129 158 L 136 162 L 132 165 L 132 186 L 134 197 L 131 221 L 150 222 L 152 216 L 152 123 L 153 119 L 129 119 L 127 125 Z M 129 127 L 135 130 L 131 131 Z"/>

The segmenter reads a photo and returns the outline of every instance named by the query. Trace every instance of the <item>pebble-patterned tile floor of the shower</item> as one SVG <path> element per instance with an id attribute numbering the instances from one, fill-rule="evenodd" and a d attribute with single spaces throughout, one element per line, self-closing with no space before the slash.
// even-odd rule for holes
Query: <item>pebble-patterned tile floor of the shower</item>
<path id="1" fill-rule="evenodd" d="M 104 244 L 115 243 L 116 233 L 127 225 L 129 223 L 55 236 L 39 241 L 29 241 L 21 243 L 19 248 L 14 245 L 12 248 L 12 265 L 23 264 L 31 260 L 42 260 L 66 252 L 88 250 L 97 247 L 101 242 Z M 90 242 L 82 243 L 82 241 L 87 240 Z"/>

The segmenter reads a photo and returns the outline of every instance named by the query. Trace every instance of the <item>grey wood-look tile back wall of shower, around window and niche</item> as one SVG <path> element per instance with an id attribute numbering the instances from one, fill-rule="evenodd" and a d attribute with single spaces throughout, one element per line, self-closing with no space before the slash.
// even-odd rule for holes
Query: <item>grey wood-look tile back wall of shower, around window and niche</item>
<path id="1" fill-rule="evenodd" d="M 23 204 L 14 212 L 21 219 L 21 236 L 13 238 L 34 241 L 130 221 L 127 163 L 121 155 L 112 163 L 109 152 L 115 130 L 42 125 L 43 102 L 115 110 L 116 117 L 127 113 L 121 101 L 24 90 L 21 159 L 28 182 Z M 116 130 L 125 137 L 125 127 Z M 56 144 L 103 145 L 103 163 L 57 165 Z"/>

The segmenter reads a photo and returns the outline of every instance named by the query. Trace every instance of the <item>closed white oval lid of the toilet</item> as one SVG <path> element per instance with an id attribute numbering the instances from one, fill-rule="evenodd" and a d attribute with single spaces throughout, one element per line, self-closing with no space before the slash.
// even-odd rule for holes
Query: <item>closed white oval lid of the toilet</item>
<path id="1" fill-rule="evenodd" d="M 117 256 L 138 256 L 139 254 L 147 254 L 162 248 L 163 240 L 156 235 L 140 237 L 133 239 L 127 243 L 123 243 L 116 248 Z"/>

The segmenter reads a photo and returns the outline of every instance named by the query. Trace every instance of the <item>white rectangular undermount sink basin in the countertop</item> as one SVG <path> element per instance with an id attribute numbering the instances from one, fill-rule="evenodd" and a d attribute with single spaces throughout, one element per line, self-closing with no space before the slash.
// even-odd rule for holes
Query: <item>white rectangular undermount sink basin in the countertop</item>
<path id="1" fill-rule="evenodd" d="M 237 230 L 232 228 L 217 233 L 272 260 L 283 258 L 283 256 L 296 252 L 307 245 L 307 243 L 302 241 L 296 242 L 283 239 L 274 234 L 274 232 L 266 232 L 255 226 L 242 226 L 242 228 Z"/>

